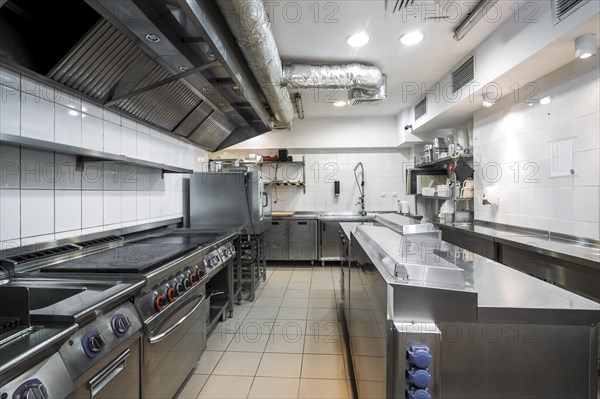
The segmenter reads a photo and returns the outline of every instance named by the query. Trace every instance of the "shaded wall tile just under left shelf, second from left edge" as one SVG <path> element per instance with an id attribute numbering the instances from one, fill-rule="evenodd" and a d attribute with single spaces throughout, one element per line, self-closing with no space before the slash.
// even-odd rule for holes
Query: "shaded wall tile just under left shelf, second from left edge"
<path id="1" fill-rule="evenodd" d="M 21 150 L 21 188 L 52 190 L 54 189 L 54 179 L 53 153 Z"/>

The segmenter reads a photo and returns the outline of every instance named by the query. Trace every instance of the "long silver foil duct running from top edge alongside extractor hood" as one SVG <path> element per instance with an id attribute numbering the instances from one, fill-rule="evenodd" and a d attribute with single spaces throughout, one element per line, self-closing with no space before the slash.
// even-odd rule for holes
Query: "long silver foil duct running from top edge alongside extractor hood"
<path id="1" fill-rule="evenodd" d="M 287 88 L 281 87 L 281 59 L 262 0 L 217 0 L 217 4 L 275 115 L 273 127 L 290 127 L 294 108 Z"/>

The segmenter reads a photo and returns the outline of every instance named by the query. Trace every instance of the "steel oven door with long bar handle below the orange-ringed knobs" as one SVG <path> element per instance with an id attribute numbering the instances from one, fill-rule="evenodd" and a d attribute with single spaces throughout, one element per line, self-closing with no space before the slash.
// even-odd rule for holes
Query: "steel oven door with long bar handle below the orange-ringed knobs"
<path id="1" fill-rule="evenodd" d="M 206 349 L 208 300 L 204 292 L 168 311 L 159 324 L 146 326 L 144 398 L 172 398 Z"/>

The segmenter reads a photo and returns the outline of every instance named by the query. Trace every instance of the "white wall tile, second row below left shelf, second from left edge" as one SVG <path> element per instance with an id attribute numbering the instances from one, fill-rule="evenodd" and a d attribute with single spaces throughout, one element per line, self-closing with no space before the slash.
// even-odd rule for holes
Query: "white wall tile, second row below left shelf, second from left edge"
<path id="1" fill-rule="evenodd" d="M 21 237 L 54 234 L 54 191 L 21 190 Z"/>

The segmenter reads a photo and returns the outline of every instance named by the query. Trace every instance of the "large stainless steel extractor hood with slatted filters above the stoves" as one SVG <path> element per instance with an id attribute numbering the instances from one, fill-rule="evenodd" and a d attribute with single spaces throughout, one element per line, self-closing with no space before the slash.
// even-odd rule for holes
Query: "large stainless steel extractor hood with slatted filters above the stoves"
<path id="1" fill-rule="evenodd" d="M 210 151 L 270 131 L 220 12 L 193 3 L 202 20 L 185 0 L 2 0 L 0 57 Z"/>

